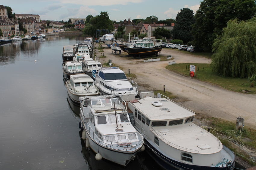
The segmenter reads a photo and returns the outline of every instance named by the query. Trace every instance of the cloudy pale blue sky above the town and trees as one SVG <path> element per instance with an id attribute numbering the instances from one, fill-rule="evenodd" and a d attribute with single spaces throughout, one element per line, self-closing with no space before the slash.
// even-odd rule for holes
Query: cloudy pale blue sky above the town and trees
<path id="1" fill-rule="evenodd" d="M 12 8 L 12 13 L 37 14 L 41 20 L 68 21 L 69 18 L 86 18 L 108 12 L 109 19 L 175 19 L 183 8 L 196 12 L 202 0 L 11 0 L 2 5 Z"/>

